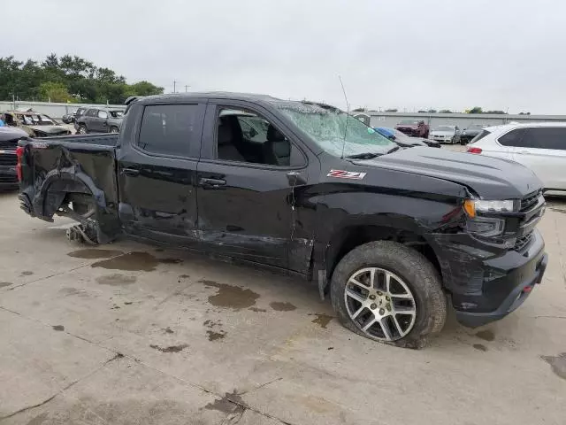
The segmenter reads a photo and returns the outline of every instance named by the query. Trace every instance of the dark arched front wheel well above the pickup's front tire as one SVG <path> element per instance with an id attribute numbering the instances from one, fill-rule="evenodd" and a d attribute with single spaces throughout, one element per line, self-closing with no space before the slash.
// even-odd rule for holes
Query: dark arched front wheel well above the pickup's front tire
<path id="1" fill-rule="evenodd" d="M 416 233 L 400 230 L 396 228 L 386 228 L 382 226 L 356 226 L 345 228 L 333 237 L 328 250 L 326 251 L 326 282 L 330 282 L 334 268 L 349 251 L 352 251 L 363 243 L 373 241 L 394 241 L 410 246 L 420 252 L 428 259 L 434 268 L 442 275 L 440 261 L 432 246 L 426 242 L 423 236 Z"/>

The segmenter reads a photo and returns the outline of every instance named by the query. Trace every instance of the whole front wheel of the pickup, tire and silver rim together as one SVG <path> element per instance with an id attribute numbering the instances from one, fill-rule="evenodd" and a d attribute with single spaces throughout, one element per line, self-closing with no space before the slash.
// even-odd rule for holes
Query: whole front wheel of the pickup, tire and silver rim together
<path id="1" fill-rule="evenodd" d="M 405 348 L 423 348 L 447 316 L 440 275 L 430 261 L 390 241 L 348 252 L 334 270 L 331 299 L 346 328 Z"/>

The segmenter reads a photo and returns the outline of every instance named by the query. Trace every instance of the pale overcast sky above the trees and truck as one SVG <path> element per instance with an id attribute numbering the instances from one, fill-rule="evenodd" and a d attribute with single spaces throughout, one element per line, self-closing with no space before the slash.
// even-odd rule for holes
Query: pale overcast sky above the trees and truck
<path id="1" fill-rule="evenodd" d="M 166 92 L 345 108 L 340 74 L 352 108 L 566 113 L 564 22 L 561 0 L 27 0 L 0 56 L 79 55 Z"/>

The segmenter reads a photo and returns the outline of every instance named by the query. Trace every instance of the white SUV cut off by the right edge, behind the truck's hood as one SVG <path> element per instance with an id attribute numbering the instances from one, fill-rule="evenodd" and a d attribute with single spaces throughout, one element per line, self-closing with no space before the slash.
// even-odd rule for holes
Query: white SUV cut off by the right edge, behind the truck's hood
<path id="1" fill-rule="evenodd" d="M 468 152 L 523 164 L 539 176 L 546 193 L 566 195 L 564 122 L 512 123 L 484 128 L 470 142 Z"/>

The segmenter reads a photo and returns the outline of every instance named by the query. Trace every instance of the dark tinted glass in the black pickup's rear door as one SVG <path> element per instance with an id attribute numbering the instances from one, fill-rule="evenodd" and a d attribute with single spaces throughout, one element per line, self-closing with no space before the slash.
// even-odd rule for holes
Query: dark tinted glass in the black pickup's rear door
<path id="1" fill-rule="evenodd" d="M 144 151 L 187 157 L 191 143 L 200 143 L 198 104 L 146 106 L 138 146 Z"/>

